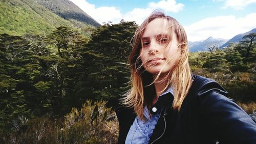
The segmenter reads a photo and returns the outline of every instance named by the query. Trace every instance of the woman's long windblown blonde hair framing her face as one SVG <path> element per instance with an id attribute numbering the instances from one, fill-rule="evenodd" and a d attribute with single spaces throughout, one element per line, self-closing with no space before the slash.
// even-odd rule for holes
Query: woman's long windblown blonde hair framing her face
<path id="1" fill-rule="evenodd" d="M 156 90 L 152 74 L 148 73 L 143 67 L 140 60 L 140 50 L 142 48 L 142 35 L 148 23 L 156 18 L 164 18 L 168 21 L 168 26 L 172 27 L 172 32 L 177 36 L 178 48 L 181 53 L 177 62 L 167 74 L 166 90 L 170 85 L 174 89 L 173 108 L 180 111 L 183 100 L 188 94 L 191 87 L 191 72 L 188 64 L 188 45 L 187 36 L 183 26 L 173 17 L 166 16 L 161 11 L 153 12 L 144 22 L 137 28 L 132 40 L 133 49 L 129 56 L 131 69 L 131 89 L 122 98 L 122 104 L 127 107 L 134 107 L 137 116 L 145 120 L 143 117 L 143 107 L 145 105 L 152 106 L 151 103 L 156 96 Z M 161 72 L 161 71 L 160 71 Z M 160 73 L 157 75 L 159 77 Z"/>

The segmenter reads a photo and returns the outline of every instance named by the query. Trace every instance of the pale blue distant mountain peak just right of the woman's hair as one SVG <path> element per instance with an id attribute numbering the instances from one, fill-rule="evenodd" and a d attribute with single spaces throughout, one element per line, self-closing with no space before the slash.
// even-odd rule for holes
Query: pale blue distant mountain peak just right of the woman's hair
<path id="1" fill-rule="evenodd" d="M 212 47 L 212 46 L 220 47 L 227 41 L 228 40 L 225 40 L 225 39 L 209 37 L 203 41 L 188 42 L 188 48 L 190 52 L 205 51 L 205 50 L 208 50 L 208 47 Z"/>

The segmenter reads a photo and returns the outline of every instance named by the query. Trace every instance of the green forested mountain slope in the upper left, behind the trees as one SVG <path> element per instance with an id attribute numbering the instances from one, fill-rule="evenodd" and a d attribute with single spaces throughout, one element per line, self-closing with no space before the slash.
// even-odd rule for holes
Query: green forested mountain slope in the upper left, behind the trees
<path id="1" fill-rule="evenodd" d="M 2 0 L 0 1 L 0 34 L 41 34 L 59 26 L 78 28 L 100 24 L 68 0 Z"/>

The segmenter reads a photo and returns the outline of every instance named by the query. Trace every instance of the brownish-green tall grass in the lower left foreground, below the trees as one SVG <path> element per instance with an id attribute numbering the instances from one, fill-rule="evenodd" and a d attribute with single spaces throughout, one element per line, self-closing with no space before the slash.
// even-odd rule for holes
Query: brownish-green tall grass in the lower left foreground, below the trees
<path id="1" fill-rule="evenodd" d="M 62 121 L 49 117 L 17 119 L 15 131 L 3 137 L 4 143 L 116 143 L 118 121 L 106 102 L 87 101 L 73 108 Z M 21 122 L 22 121 L 22 122 Z"/>

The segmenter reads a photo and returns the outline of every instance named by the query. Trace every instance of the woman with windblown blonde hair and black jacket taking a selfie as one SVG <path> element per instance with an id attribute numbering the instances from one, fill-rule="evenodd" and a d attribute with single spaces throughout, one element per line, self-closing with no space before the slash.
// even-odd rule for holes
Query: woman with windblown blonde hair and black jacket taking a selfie
<path id="1" fill-rule="evenodd" d="M 184 28 L 162 12 L 137 28 L 118 143 L 256 143 L 252 119 L 216 81 L 191 75 L 188 53 Z"/>

